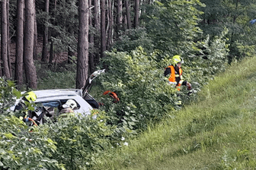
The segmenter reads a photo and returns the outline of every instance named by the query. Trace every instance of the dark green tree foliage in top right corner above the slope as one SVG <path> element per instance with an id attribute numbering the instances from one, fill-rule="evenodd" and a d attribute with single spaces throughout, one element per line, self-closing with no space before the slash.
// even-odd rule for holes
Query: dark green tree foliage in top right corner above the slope
<path id="1" fill-rule="evenodd" d="M 249 24 L 249 21 L 255 17 L 256 1 L 201 0 L 201 2 L 206 4 L 206 8 L 199 8 L 204 12 L 201 16 L 203 21 L 199 24 L 203 33 L 215 36 L 220 35 L 225 27 L 229 29 L 226 35 L 230 44 L 229 61 L 233 58 L 244 58 L 245 51 L 255 50 L 255 39 L 251 38 L 256 36 L 255 25 Z"/>

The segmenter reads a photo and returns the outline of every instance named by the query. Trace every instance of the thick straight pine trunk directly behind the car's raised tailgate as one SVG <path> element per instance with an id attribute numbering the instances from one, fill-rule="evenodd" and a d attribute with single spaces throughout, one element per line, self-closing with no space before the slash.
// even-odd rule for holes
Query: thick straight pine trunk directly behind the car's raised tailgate
<path id="1" fill-rule="evenodd" d="M 78 1 L 78 61 L 76 88 L 81 89 L 88 77 L 88 1 Z"/>

